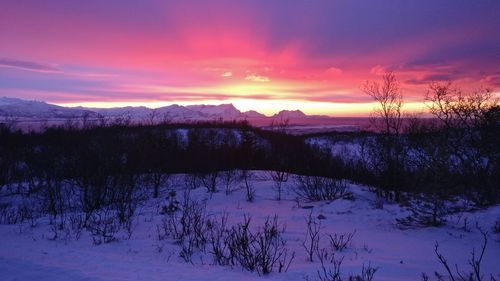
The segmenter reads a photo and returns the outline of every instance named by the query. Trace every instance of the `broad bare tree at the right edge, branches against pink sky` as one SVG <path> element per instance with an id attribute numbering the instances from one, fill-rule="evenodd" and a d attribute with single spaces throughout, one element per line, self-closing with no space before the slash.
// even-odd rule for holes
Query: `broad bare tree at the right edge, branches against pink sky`
<path id="1" fill-rule="evenodd" d="M 426 101 L 439 122 L 436 131 L 441 141 L 434 150 L 458 172 L 461 185 L 472 191 L 476 203 L 495 203 L 500 199 L 495 178 L 500 150 L 494 144 L 499 132 L 498 99 L 488 88 L 463 91 L 447 82 L 431 83 Z"/>

